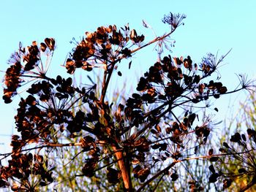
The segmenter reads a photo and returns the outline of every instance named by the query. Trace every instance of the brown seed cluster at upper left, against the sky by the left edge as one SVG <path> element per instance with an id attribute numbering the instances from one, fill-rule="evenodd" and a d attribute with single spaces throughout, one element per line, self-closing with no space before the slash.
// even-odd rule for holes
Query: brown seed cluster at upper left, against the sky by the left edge
<path id="1" fill-rule="evenodd" d="M 9 63 L 10 68 L 7 69 L 4 77 L 4 102 L 12 102 L 12 96 L 17 94 L 17 89 L 26 83 L 24 79 L 26 77 L 42 78 L 45 76 L 47 70 L 43 69 L 41 54 L 48 52 L 47 55 L 50 56 L 55 49 L 55 40 L 53 38 L 46 38 L 45 42 L 37 45 L 37 42 L 32 42 L 32 45 L 25 48 L 20 44 L 18 52 L 11 55 Z"/>

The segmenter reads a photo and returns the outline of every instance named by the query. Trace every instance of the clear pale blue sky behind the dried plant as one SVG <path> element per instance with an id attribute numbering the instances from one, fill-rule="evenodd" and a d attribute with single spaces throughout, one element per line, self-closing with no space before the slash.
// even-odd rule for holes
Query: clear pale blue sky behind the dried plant
<path id="1" fill-rule="evenodd" d="M 69 44 L 72 37 L 79 39 L 85 31 L 95 31 L 98 26 L 124 26 L 129 23 L 130 28 L 135 28 L 150 40 L 154 36 L 149 29 L 143 28 L 142 20 L 146 20 L 160 36 L 169 30 L 169 26 L 161 21 L 163 16 L 168 12 L 180 12 L 187 15 L 187 18 L 184 20 L 185 25 L 173 34 L 176 47 L 173 47 L 171 55 L 190 55 L 193 61 L 199 63 L 206 53 L 219 52 L 222 55 L 232 48 L 223 63 L 225 65 L 219 71 L 227 88 L 234 88 L 238 83 L 236 74 L 246 73 L 249 78 L 255 77 L 255 8 L 255 0 L 1 0 L 0 70 L 7 69 L 7 60 L 18 49 L 19 42 L 31 45 L 34 40 L 42 42 L 45 37 L 54 37 L 57 50 L 49 72 L 56 77 L 65 72 L 60 65 L 72 50 L 73 45 Z M 154 64 L 157 54 L 153 48 L 148 47 L 141 55 L 135 55 L 136 61 L 133 64 L 140 65 L 142 71 Z M 0 78 L 3 77 L 4 73 L 0 73 Z M 228 103 L 234 104 L 233 101 L 236 101 L 235 105 L 238 105 L 242 96 L 241 93 L 232 98 L 225 96 L 219 104 L 227 107 Z M 3 134 L 12 134 L 17 102 L 18 98 L 13 104 L 7 105 L 0 99 L 0 143 L 10 138 Z M 219 107 L 222 114 L 227 112 L 225 107 Z"/>

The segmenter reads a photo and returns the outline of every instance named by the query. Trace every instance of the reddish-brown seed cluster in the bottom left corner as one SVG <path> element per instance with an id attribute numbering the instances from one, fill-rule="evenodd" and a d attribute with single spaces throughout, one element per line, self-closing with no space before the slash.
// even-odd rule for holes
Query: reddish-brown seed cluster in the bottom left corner
<path id="1" fill-rule="evenodd" d="M 7 187 L 10 184 L 7 180 L 15 177 L 20 183 L 12 183 L 12 191 L 37 191 L 39 186 L 45 186 L 53 182 L 52 168 L 48 164 L 48 159 L 42 155 L 32 153 L 20 153 L 18 147 L 23 145 L 23 139 L 18 136 L 12 137 L 12 159 L 8 161 L 8 166 L 1 166 L 0 187 Z M 31 185 L 32 178 L 36 181 Z"/>

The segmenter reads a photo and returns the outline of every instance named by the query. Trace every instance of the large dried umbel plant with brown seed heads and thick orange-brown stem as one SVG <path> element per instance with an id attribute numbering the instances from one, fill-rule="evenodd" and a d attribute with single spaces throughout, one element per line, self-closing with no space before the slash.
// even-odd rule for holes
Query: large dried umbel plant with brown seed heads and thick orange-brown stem
<path id="1" fill-rule="evenodd" d="M 67 180 L 97 179 L 97 173 L 105 170 L 108 183 L 121 183 L 119 191 L 155 191 L 162 180 L 170 180 L 173 188 L 178 188 L 176 180 L 188 170 L 186 166 L 182 169 L 181 165 L 186 165 L 183 162 L 218 161 L 218 155 L 212 151 L 208 155 L 196 153 L 196 149 L 206 146 L 214 128 L 210 116 L 202 117 L 200 111 L 208 107 L 212 98 L 247 88 L 245 82 L 227 91 L 219 77 L 214 79 L 212 74 L 219 73 L 218 66 L 226 55 L 218 60 L 208 54 L 197 65 L 190 56 L 162 56 L 159 47 L 158 61 L 140 77 L 137 91 L 125 103 L 110 104 L 106 99 L 118 65 L 148 45 L 165 44 L 184 18 L 185 15 L 173 13 L 165 15 L 162 21 L 170 25 L 170 31 L 149 42 L 128 25 L 120 29 L 115 25 L 102 26 L 86 32 L 80 42 L 74 41 L 76 47 L 66 61 L 69 74 L 79 68 L 87 72 L 104 71 L 102 82 L 85 87 L 75 86 L 71 77 L 48 77 L 55 39 L 46 38 L 40 45 L 33 42 L 27 48 L 20 45 L 5 75 L 4 101 L 10 103 L 23 84 L 31 84 L 26 99 L 20 99 L 15 116 L 20 136 L 12 136 L 11 153 L 1 154 L 2 159 L 10 157 L 9 164 L 0 169 L 1 187 L 39 191 L 42 186 L 51 186 L 58 161 L 49 162 L 49 156 L 61 153 L 64 148 L 76 149 L 69 161 L 78 155 L 83 157 L 79 172 Z M 215 181 L 221 173 L 212 167 L 210 170 L 210 181 Z M 97 185 L 99 189 L 105 188 L 105 183 Z M 193 177 L 189 188 L 203 190 Z"/>

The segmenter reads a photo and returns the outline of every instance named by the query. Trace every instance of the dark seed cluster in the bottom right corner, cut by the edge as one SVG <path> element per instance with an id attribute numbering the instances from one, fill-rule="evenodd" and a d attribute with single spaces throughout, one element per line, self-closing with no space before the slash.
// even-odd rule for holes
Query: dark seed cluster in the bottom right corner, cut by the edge
<path id="1" fill-rule="evenodd" d="M 211 166 L 209 166 L 211 175 L 208 180 L 210 183 L 215 183 L 217 180 L 223 179 L 222 186 L 225 189 L 229 188 L 236 180 L 249 180 L 250 182 L 254 182 L 255 152 L 252 149 L 255 147 L 256 143 L 256 131 L 248 128 L 247 134 L 248 139 L 246 139 L 245 134 L 236 132 L 230 137 L 231 145 L 228 145 L 227 142 L 223 142 L 223 147 L 219 148 L 219 152 L 223 154 L 220 158 L 218 156 L 214 156 L 212 149 L 209 150 L 208 155 L 211 156 L 209 161 L 215 162 L 215 164 L 211 164 Z M 233 155 L 230 156 L 225 154 Z M 235 170 L 228 170 L 227 166 L 223 166 L 230 161 L 232 161 L 233 164 L 236 164 Z M 219 171 L 217 172 L 214 167 L 219 169 Z M 244 186 L 244 188 L 246 187 L 247 185 Z"/>

